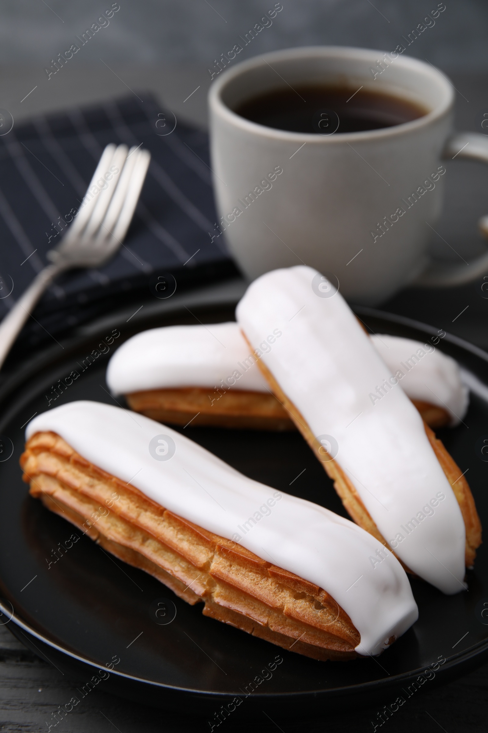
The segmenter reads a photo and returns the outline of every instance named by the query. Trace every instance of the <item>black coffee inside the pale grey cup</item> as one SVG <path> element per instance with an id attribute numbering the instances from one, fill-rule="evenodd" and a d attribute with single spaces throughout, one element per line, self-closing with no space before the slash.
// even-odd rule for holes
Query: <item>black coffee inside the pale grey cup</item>
<path id="1" fill-rule="evenodd" d="M 236 114 L 296 133 L 356 133 L 402 125 L 427 114 L 420 104 L 350 86 L 294 86 L 251 97 Z"/>

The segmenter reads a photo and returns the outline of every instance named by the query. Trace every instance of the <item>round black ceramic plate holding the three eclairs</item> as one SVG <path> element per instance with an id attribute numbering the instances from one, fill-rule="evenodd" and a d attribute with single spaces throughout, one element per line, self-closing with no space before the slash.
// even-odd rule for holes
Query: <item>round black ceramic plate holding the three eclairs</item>
<path id="1" fill-rule="evenodd" d="M 195 313 L 195 309 L 193 311 Z M 426 339 L 436 334 L 412 321 L 367 309 L 361 319 L 377 333 Z M 211 323 L 232 318 L 232 308 L 200 309 L 198 319 Z M 159 317 L 159 323 L 184 323 L 189 313 Z M 192 320 L 195 323 L 195 320 Z M 139 320 L 137 330 L 158 323 Z M 221 706 L 240 704 L 241 712 L 330 709 L 354 696 L 355 704 L 379 693 L 394 701 L 424 685 L 426 679 L 448 679 L 488 655 L 488 557 L 482 545 L 468 592 L 448 597 L 422 581 L 412 580 L 418 622 L 380 658 L 348 663 L 321 663 L 252 638 L 190 608 L 142 571 L 113 559 L 70 524 L 44 509 L 20 480 L 18 458 L 24 426 L 36 413 L 75 399 L 114 404 L 105 384 L 105 368 L 114 348 L 132 335 L 124 328 L 108 354 L 86 367 L 86 356 L 116 324 L 97 337 L 65 345 L 61 358 L 45 356 L 0 391 L 0 595 L 3 616 L 13 633 L 67 675 L 93 679 L 104 690 L 161 707 L 194 702 L 209 715 Z M 129 325 L 132 331 L 129 331 Z M 105 339 L 107 342 L 107 339 Z M 103 349 L 104 347 L 102 347 Z M 488 356 L 459 339 L 444 336 L 438 348 L 457 358 L 481 380 Z M 72 370 L 79 377 L 65 377 Z M 64 387 L 61 386 L 63 380 Z M 72 383 L 70 383 L 72 381 Z M 56 397 L 59 394 L 59 397 Z M 51 401 L 50 401 L 51 400 Z M 50 401 L 50 402 L 49 402 Z M 184 431 L 239 471 L 279 490 L 322 504 L 345 516 L 322 466 L 299 433 L 273 434 L 192 428 Z M 488 438 L 488 404 L 472 397 L 468 415 L 454 430 L 439 432 L 460 472 L 468 479 L 483 523 L 488 522 L 488 463 L 481 453 Z M 488 444 L 488 442 L 487 442 Z M 306 470 L 304 470 L 306 469 Z M 56 554 L 56 548 L 64 547 Z M 56 556 L 59 556 L 57 561 Z M 155 614 L 157 604 L 159 615 Z M 162 609 L 162 611 L 161 611 Z M 176 616 L 173 615 L 176 611 Z M 165 615 L 161 615 L 165 614 Z M 8 621 L 8 619 L 11 619 Z M 173 619 L 173 620 L 171 620 Z M 165 623 L 161 623 L 165 622 Z M 112 660 L 119 660 L 112 671 Z M 279 663 L 277 663 L 279 662 Z M 427 674 L 425 670 L 430 669 Z M 104 670 L 102 673 L 98 670 Z M 413 680 L 417 679 L 416 686 Z M 429 682 L 431 685 L 432 682 Z M 433 683 L 435 684 L 435 682 Z M 80 688 L 83 690 L 83 687 Z"/>

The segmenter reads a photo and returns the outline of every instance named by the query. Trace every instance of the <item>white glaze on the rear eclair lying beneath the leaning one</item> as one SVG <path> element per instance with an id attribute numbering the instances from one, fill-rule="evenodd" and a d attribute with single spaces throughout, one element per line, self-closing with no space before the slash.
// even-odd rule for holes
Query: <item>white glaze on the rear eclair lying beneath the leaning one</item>
<path id="1" fill-rule="evenodd" d="M 468 408 L 468 389 L 454 359 L 431 344 L 399 336 L 371 339 L 393 374 L 404 369 L 401 386 L 410 399 L 446 408 L 451 425 L 459 423 Z M 418 356 L 419 349 L 424 357 Z M 399 366 L 401 361 L 405 367 Z M 113 394 L 183 387 L 269 391 L 237 323 L 142 331 L 110 358 L 107 383 Z"/>

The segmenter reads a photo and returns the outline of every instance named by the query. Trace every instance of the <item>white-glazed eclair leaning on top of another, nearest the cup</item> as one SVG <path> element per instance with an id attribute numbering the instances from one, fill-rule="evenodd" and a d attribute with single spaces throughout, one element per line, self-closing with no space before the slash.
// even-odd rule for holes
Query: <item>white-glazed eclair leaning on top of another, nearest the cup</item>
<path id="1" fill-rule="evenodd" d="M 306 266 L 255 280 L 236 317 L 353 520 L 410 572 L 464 589 L 481 524 L 462 470 L 399 386 L 407 370 L 391 373 L 337 288 Z"/>

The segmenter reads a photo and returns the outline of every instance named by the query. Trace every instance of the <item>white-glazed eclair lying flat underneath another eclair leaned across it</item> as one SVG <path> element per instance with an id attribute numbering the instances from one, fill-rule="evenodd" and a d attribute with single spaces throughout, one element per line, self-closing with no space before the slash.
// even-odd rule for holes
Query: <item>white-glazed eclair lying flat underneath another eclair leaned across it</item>
<path id="1" fill-rule="evenodd" d="M 402 388 L 427 424 L 454 427 L 462 420 L 468 389 L 454 359 L 430 342 L 371 339 L 392 373 L 405 365 Z M 132 410 L 160 422 L 295 430 L 237 323 L 166 326 L 132 336 L 110 359 L 107 383 Z"/>

